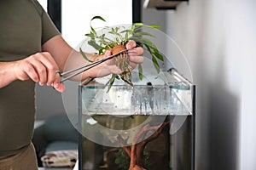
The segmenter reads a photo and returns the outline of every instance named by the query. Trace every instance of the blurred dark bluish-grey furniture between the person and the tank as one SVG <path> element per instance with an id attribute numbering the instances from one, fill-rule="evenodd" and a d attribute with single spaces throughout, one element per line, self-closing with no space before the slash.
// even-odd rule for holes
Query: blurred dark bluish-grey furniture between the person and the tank
<path id="1" fill-rule="evenodd" d="M 36 122 L 32 143 L 38 157 L 38 167 L 43 167 L 41 157 L 51 151 L 78 150 L 79 133 L 66 114 L 51 116 Z"/>

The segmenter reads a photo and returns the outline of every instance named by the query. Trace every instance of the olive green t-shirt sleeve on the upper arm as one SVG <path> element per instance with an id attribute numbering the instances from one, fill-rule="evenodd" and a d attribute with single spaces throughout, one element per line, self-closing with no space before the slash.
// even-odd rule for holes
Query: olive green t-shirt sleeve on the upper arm
<path id="1" fill-rule="evenodd" d="M 42 45 L 47 42 L 51 37 L 61 34 L 60 31 L 55 27 L 53 21 L 49 18 L 44 8 L 38 3 L 37 0 L 32 0 L 35 7 L 37 8 L 42 20 Z"/>

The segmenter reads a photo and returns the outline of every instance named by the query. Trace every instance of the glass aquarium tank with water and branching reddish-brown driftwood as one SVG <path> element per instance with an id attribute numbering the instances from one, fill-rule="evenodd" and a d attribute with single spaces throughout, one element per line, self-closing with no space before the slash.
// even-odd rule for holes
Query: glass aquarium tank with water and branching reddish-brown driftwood
<path id="1" fill-rule="evenodd" d="M 79 85 L 79 170 L 195 169 L 195 85 L 175 69 Z"/>

